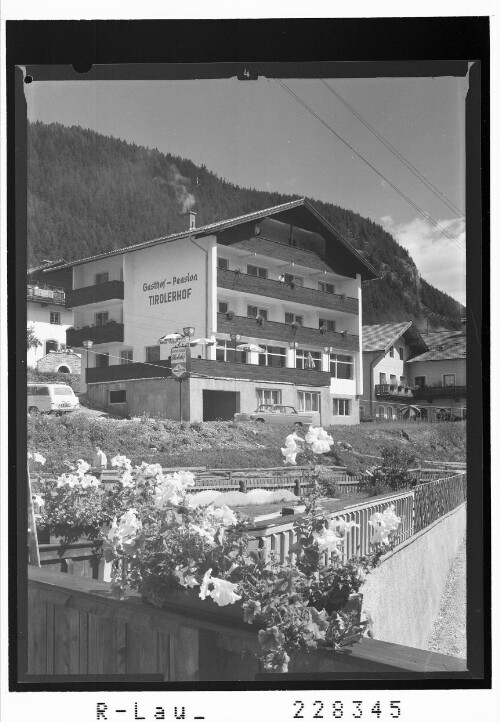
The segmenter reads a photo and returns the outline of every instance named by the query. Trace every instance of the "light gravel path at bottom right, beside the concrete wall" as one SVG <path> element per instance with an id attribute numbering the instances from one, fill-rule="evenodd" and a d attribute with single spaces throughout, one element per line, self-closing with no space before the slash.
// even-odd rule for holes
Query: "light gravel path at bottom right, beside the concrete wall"
<path id="1" fill-rule="evenodd" d="M 466 550 L 465 539 L 453 561 L 427 649 L 430 652 L 467 657 L 466 639 Z"/>

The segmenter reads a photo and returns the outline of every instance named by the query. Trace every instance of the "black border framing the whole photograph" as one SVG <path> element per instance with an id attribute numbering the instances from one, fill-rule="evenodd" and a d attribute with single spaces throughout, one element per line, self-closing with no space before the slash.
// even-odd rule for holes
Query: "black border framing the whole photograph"
<path id="1" fill-rule="evenodd" d="M 73 68 L 71 67 L 73 66 Z M 467 236 L 468 672 L 254 683 L 135 683 L 33 678 L 26 669 L 26 103 L 37 80 L 241 76 L 465 75 Z M 491 687 L 489 417 L 489 18 L 7 21 L 7 277 L 9 401 L 9 689 L 449 689 Z M 472 401 L 472 402 L 471 402 Z"/>

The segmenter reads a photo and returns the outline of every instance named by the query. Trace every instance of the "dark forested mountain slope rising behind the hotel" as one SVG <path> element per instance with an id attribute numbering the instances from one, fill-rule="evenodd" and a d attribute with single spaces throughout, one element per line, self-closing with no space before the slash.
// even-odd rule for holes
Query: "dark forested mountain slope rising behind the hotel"
<path id="1" fill-rule="evenodd" d="M 268 208 L 299 196 L 241 188 L 205 166 L 80 127 L 28 126 L 28 259 L 75 260 L 182 229 Z M 459 319 L 464 309 L 420 278 L 408 252 L 373 221 L 309 199 L 383 275 L 363 289 L 363 323 L 414 319 L 428 309 Z M 382 209 L 381 209 L 382 210 Z M 434 325 L 450 327 L 431 315 Z"/>

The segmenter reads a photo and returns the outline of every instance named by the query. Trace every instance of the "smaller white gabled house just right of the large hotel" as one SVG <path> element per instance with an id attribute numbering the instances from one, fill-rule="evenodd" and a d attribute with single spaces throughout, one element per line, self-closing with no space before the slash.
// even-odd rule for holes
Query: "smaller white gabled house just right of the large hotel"
<path id="1" fill-rule="evenodd" d="M 428 346 L 413 321 L 363 326 L 360 418 L 395 420 L 414 412 L 407 363 Z"/>

